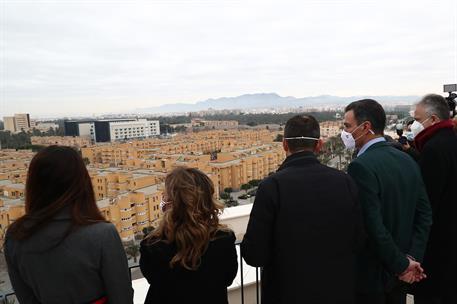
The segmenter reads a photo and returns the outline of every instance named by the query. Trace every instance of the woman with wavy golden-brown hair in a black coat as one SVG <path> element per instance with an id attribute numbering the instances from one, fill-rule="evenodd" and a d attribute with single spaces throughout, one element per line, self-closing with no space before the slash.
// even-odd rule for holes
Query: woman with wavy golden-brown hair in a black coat
<path id="1" fill-rule="evenodd" d="M 167 175 L 159 227 L 141 243 L 140 267 L 150 287 L 146 304 L 226 304 L 238 270 L 235 235 L 219 223 L 222 205 L 204 173 Z"/>

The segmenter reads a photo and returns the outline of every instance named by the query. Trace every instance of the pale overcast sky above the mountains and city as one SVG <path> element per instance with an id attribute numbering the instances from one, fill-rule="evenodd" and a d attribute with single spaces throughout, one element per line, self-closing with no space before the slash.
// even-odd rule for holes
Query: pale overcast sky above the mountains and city
<path id="1" fill-rule="evenodd" d="M 457 83 L 455 0 L 0 0 L 0 119 Z"/>

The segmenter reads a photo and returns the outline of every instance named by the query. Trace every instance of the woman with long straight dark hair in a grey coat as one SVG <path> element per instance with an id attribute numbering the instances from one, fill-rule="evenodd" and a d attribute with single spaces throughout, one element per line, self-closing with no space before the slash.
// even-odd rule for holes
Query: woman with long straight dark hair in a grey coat
<path id="1" fill-rule="evenodd" d="M 8 228 L 5 257 L 21 304 L 133 302 L 121 240 L 72 148 L 50 146 L 32 159 L 25 215 Z"/>

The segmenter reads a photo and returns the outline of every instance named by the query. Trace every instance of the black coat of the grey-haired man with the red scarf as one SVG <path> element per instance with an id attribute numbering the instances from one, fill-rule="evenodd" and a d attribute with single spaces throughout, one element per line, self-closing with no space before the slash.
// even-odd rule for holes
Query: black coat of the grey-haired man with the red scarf
<path id="1" fill-rule="evenodd" d="M 428 278 L 415 293 L 457 293 L 457 137 L 438 130 L 424 145 L 419 166 L 433 210 L 433 225 L 423 267 Z"/>

